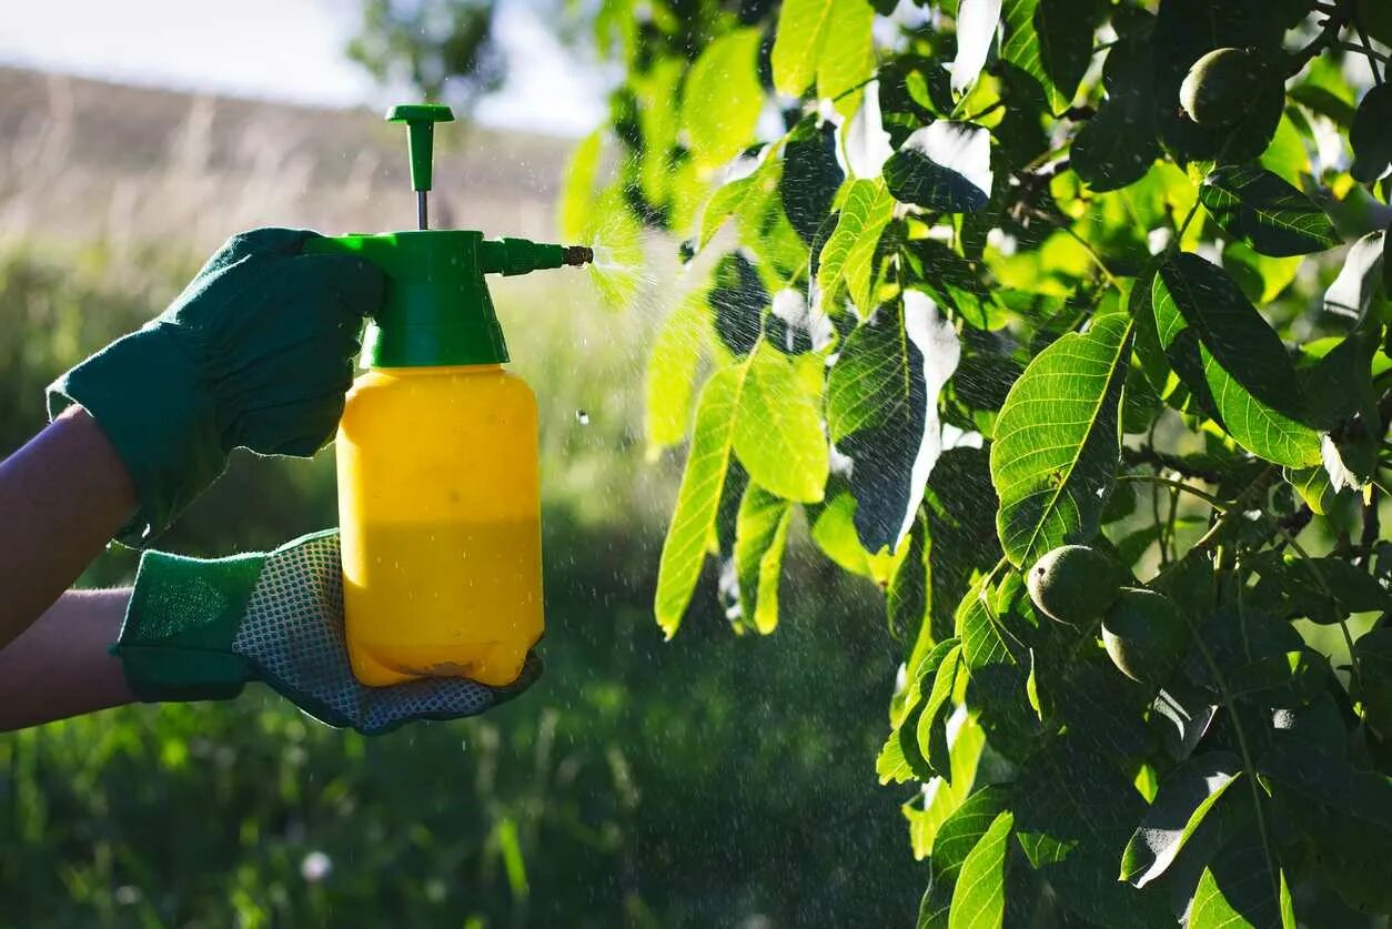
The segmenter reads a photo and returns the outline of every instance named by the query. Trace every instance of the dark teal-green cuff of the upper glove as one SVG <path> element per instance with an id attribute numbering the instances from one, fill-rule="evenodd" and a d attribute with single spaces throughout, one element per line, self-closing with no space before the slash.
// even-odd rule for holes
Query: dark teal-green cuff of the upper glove
<path id="1" fill-rule="evenodd" d="M 116 536 L 124 545 L 153 542 L 227 465 L 213 404 L 167 326 L 118 338 L 49 386 L 50 418 L 74 403 L 106 433 L 135 486 L 136 510 Z"/>

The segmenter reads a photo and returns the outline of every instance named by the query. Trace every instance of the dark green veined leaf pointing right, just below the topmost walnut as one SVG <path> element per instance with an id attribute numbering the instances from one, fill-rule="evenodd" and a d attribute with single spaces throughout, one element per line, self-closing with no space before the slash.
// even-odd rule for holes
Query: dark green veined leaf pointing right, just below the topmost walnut
<path id="1" fill-rule="evenodd" d="M 1229 235 L 1263 255 L 1308 255 L 1339 244 L 1325 212 L 1264 167 L 1215 167 L 1199 188 L 1199 201 Z"/>

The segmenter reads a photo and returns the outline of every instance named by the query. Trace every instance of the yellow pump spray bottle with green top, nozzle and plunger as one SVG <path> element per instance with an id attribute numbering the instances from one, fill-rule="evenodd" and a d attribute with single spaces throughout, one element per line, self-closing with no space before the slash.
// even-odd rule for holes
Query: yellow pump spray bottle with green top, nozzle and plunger
<path id="1" fill-rule="evenodd" d="M 397 106 L 415 231 L 340 235 L 387 276 L 338 428 L 344 613 L 354 674 L 372 687 L 420 677 L 516 680 L 540 639 L 541 532 L 536 397 L 504 369 L 508 348 L 483 276 L 583 265 L 590 249 L 473 230 L 430 230 L 434 124 L 447 106 Z"/>

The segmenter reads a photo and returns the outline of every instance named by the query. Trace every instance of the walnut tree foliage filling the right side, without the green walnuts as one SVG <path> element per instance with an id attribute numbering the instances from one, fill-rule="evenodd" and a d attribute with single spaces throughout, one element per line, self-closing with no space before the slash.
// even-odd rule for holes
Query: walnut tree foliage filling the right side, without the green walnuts
<path id="1" fill-rule="evenodd" d="M 562 224 L 697 277 L 647 370 L 686 448 L 657 621 L 710 578 L 774 632 L 798 511 L 883 588 L 919 925 L 1392 912 L 1392 4 L 604 0 L 594 35 L 625 78 Z M 1199 125 L 1224 47 L 1265 77 Z M 1068 543 L 1182 660 L 1137 682 L 1034 607 Z"/>

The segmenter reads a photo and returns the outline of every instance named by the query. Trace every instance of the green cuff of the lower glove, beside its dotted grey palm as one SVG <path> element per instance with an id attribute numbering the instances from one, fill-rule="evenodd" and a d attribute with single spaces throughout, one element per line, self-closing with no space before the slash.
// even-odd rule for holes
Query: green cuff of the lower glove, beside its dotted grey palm
<path id="1" fill-rule="evenodd" d="M 264 554 L 185 559 L 146 552 L 111 653 L 141 701 L 217 701 L 256 677 L 232 652 Z"/>

